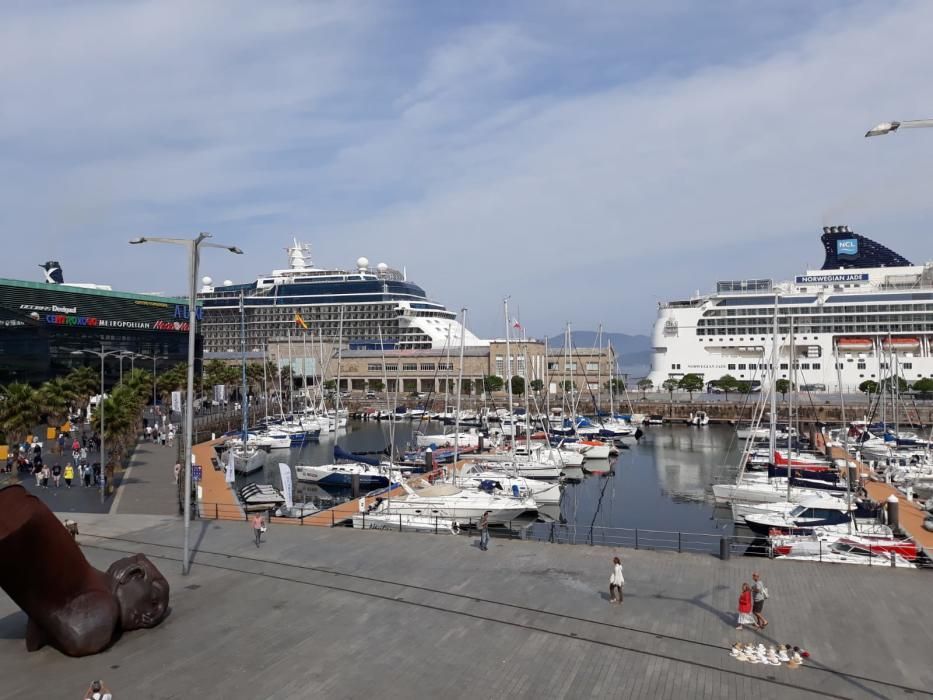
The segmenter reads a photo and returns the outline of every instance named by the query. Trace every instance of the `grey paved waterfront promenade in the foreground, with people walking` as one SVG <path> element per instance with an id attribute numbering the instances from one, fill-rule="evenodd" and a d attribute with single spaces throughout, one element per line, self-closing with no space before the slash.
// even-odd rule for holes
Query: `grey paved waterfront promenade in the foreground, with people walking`
<path id="1" fill-rule="evenodd" d="M 134 698 L 901 698 L 931 696 L 930 574 L 844 565 L 493 539 L 79 515 L 106 568 L 143 552 L 172 586 L 171 615 L 110 650 L 25 651 L 25 616 L 0 596 L 0 698 L 78 698 L 102 678 Z M 625 603 L 608 603 L 611 557 Z M 743 581 L 770 590 L 762 632 L 735 629 Z M 729 656 L 790 643 L 797 670 Z"/>

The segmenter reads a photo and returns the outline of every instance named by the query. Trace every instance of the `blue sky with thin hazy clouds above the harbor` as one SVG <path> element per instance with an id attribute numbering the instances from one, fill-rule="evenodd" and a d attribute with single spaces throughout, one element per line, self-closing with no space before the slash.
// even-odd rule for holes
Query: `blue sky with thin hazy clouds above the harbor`
<path id="1" fill-rule="evenodd" d="M 650 333 L 657 302 L 929 251 L 933 3 L 7 0 L 0 276 L 177 294 L 366 256 L 482 336 Z M 513 314 L 514 315 L 514 314 Z"/>

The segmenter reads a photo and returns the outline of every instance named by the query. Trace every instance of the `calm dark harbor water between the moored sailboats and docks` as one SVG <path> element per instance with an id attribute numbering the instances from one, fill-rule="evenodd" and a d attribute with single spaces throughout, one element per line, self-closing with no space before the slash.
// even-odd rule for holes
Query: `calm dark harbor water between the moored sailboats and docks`
<path id="1" fill-rule="evenodd" d="M 413 432 L 443 432 L 440 423 L 398 422 L 395 444 L 405 450 Z M 350 497 L 348 489 L 333 490 L 294 478 L 298 464 L 333 461 L 334 444 L 350 452 L 373 452 L 389 445 L 387 422 L 353 422 L 336 435 L 322 435 L 300 449 L 274 450 L 265 467 L 238 486 L 256 481 L 281 487 L 278 464 L 292 467 L 296 502 L 329 507 Z M 583 530 L 640 528 L 708 535 L 732 534 L 731 519 L 716 518 L 709 486 L 724 465 L 735 464 L 737 449 L 731 426 L 650 426 L 638 445 L 622 449 L 611 460 L 588 460 L 586 469 L 568 470 L 560 506 L 544 507 L 540 520 Z"/>

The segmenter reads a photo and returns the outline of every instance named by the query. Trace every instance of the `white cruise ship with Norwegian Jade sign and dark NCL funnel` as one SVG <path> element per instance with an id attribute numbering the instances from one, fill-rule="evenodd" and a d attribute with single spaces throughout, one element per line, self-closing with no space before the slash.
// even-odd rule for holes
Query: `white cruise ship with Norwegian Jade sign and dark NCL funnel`
<path id="1" fill-rule="evenodd" d="M 856 391 L 892 373 L 933 377 L 933 263 L 914 265 L 848 226 L 824 227 L 821 240 L 823 267 L 793 282 L 729 280 L 715 293 L 661 303 L 654 386 L 688 373 L 767 384 L 774 342 L 775 376 L 794 374 L 801 389 L 838 391 L 841 382 Z"/>

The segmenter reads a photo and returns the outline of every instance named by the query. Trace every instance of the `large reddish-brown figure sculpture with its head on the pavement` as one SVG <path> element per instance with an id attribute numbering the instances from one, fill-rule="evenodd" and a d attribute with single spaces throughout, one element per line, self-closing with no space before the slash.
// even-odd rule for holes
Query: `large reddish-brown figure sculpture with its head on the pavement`
<path id="1" fill-rule="evenodd" d="M 144 555 L 92 567 L 48 507 L 22 486 L 0 490 L 0 588 L 29 616 L 26 648 L 96 654 L 121 631 L 168 614 L 168 581 Z"/>

